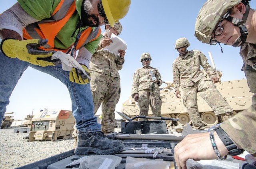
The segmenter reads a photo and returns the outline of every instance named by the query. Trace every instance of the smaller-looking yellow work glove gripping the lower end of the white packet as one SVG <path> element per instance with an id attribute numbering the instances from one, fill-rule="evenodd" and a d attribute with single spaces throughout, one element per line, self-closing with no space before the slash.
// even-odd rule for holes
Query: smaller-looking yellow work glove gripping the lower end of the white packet
<path id="1" fill-rule="evenodd" d="M 82 68 L 85 70 L 86 74 L 91 77 L 91 74 L 88 70 L 88 68 L 84 65 L 81 65 Z M 89 83 L 91 78 L 88 78 L 86 75 L 84 75 L 84 73 L 79 70 L 79 69 L 76 69 L 76 68 L 72 68 L 72 70 L 70 71 L 69 73 L 69 80 L 71 82 L 75 82 L 75 83 L 79 83 L 79 84 L 86 84 L 86 83 Z"/>

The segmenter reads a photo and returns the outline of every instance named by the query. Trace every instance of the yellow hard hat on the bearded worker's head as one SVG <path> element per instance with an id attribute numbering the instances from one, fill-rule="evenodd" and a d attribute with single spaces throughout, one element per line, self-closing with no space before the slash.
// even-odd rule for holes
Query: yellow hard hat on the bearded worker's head
<path id="1" fill-rule="evenodd" d="M 124 18 L 130 8 L 131 0 L 102 0 L 102 6 L 110 26 Z"/>

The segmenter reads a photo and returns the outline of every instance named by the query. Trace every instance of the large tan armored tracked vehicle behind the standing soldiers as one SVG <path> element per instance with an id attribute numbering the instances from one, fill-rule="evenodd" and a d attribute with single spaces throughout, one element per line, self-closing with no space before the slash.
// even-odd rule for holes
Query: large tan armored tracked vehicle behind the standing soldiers
<path id="1" fill-rule="evenodd" d="M 182 98 L 176 97 L 174 86 L 171 82 L 165 83 L 168 83 L 167 86 L 160 88 L 162 117 L 179 118 L 180 121 L 177 121 L 177 124 L 191 124 L 188 110 L 184 106 Z M 230 104 L 233 110 L 233 116 L 252 104 L 253 93 L 249 92 L 250 89 L 246 79 L 223 81 L 215 85 L 223 98 Z M 182 90 L 180 90 L 180 93 L 182 95 Z M 202 121 L 206 126 L 213 126 L 218 122 L 223 122 L 222 116 L 217 117 L 212 108 L 199 95 L 197 96 L 197 104 Z M 137 102 L 129 96 L 129 99 L 123 103 L 121 112 L 132 118 L 139 115 L 140 109 Z M 149 109 L 148 115 L 152 116 L 151 109 Z M 172 124 L 176 124 L 176 121 L 166 121 L 166 124 L 169 127 Z"/>

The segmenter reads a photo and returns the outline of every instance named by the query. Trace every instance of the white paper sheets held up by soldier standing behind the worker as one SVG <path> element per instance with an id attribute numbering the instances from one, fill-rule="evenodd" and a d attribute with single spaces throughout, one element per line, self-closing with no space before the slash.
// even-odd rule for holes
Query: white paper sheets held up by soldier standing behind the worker
<path id="1" fill-rule="evenodd" d="M 127 49 L 127 45 L 125 43 L 125 41 L 123 39 L 121 39 L 120 37 L 116 36 L 114 33 L 112 33 L 110 39 L 113 41 L 112 43 L 110 43 L 110 45 L 106 46 L 103 48 L 103 50 L 108 50 L 112 53 L 116 53 L 117 55 L 118 50 L 126 50 Z"/>

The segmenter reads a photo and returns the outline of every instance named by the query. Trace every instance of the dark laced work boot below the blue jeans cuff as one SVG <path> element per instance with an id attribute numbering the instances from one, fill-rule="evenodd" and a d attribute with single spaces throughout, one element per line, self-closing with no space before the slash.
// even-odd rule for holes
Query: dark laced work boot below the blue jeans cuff
<path id="1" fill-rule="evenodd" d="M 89 152 L 110 155 L 123 149 L 124 144 L 121 140 L 109 140 L 102 132 L 84 133 L 78 131 L 75 155 L 88 155 Z"/>

